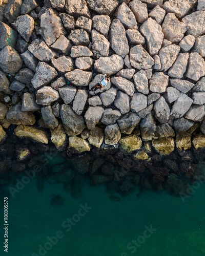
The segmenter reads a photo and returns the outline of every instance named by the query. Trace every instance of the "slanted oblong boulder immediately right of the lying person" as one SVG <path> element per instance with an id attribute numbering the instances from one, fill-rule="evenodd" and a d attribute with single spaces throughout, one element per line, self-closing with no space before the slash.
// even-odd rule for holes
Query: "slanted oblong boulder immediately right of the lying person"
<path id="1" fill-rule="evenodd" d="M 127 93 L 129 96 L 133 96 L 134 84 L 132 82 L 120 76 L 112 77 L 110 80 L 119 90 Z"/>

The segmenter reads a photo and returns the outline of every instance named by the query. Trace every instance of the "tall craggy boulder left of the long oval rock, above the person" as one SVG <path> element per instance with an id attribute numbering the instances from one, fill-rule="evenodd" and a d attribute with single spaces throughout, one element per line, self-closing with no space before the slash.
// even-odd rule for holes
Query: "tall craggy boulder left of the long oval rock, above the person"
<path id="1" fill-rule="evenodd" d="M 99 34 L 96 30 L 92 30 L 92 52 L 95 58 L 100 56 L 108 56 L 110 49 L 110 42 L 105 38 L 104 35 Z"/>

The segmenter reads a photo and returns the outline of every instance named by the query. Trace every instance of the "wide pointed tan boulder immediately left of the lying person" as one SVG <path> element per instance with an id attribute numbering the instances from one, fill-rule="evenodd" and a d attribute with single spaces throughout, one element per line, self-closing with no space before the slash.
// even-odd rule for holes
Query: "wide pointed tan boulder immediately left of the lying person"
<path id="1" fill-rule="evenodd" d="M 88 86 L 92 79 L 92 72 L 75 69 L 65 74 L 67 80 L 72 82 L 74 86 Z"/>

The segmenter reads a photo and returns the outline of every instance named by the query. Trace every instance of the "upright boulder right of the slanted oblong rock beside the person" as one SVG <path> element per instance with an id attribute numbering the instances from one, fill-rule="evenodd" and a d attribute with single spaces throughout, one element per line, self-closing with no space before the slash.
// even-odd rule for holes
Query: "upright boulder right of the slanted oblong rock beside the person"
<path id="1" fill-rule="evenodd" d="M 143 93 L 143 94 L 149 93 L 148 78 L 143 69 L 141 69 L 139 72 L 134 74 L 133 79 L 134 79 L 135 87 L 139 93 Z"/>

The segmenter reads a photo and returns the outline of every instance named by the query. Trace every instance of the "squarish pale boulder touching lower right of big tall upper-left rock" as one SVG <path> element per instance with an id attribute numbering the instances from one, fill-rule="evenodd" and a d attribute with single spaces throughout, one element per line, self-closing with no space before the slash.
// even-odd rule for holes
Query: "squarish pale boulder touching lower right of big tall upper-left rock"
<path id="1" fill-rule="evenodd" d="M 60 54 L 68 55 L 71 52 L 71 43 L 70 41 L 64 36 L 61 35 L 51 47 L 59 52 Z"/>

